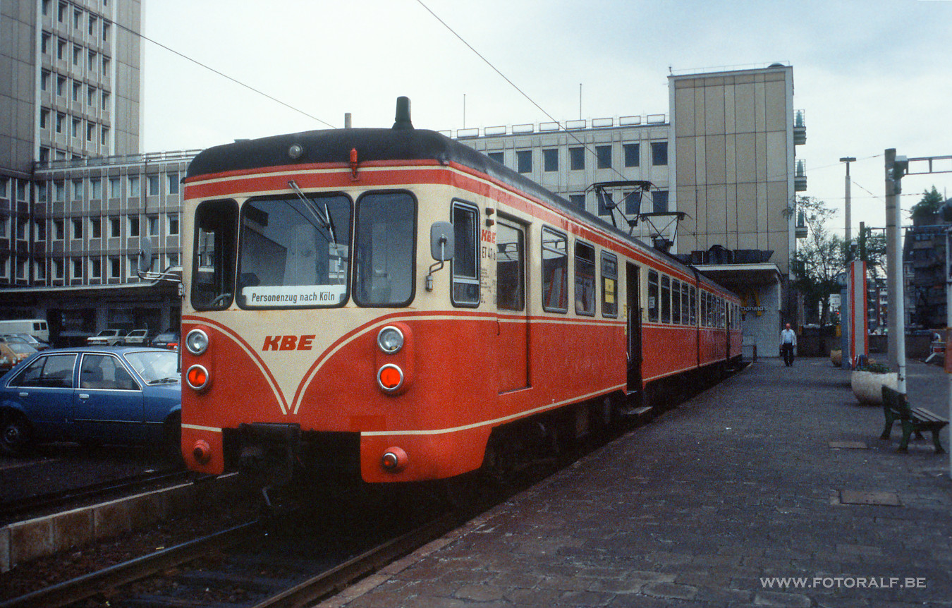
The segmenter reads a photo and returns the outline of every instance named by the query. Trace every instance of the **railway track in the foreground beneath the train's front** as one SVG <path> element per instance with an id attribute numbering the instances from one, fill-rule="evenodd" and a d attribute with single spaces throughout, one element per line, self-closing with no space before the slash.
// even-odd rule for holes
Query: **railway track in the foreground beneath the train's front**
<path id="1" fill-rule="evenodd" d="M 303 606 L 344 589 L 460 525 L 444 513 L 360 550 L 367 539 L 327 546 L 255 520 L 20 598 L 0 608 L 69 606 Z M 276 537 L 276 541 L 270 539 Z M 292 539 L 294 537 L 295 539 Z M 302 542 L 302 540 L 304 542 Z M 340 543 L 335 539 L 330 544 Z M 317 546 L 304 550 L 303 545 Z M 322 546 L 323 545 L 323 546 Z"/>

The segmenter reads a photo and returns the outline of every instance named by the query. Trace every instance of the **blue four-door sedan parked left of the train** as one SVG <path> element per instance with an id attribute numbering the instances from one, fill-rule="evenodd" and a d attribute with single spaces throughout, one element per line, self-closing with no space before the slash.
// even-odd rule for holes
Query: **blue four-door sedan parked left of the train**
<path id="1" fill-rule="evenodd" d="M 10 456 L 43 441 L 169 442 L 178 450 L 181 421 L 181 373 L 171 350 L 44 350 L 0 379 L 0 451 Z"/>

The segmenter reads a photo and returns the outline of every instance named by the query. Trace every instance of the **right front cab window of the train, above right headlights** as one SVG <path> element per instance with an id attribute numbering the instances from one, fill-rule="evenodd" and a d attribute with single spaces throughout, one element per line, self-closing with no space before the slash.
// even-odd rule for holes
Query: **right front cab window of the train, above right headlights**
<path id="1" fill-rule="evenodd" d="M 413 300 L 416 200 L 407 192 L 368 192 L 357 201 L 354 300 L 406 306 Z"/>

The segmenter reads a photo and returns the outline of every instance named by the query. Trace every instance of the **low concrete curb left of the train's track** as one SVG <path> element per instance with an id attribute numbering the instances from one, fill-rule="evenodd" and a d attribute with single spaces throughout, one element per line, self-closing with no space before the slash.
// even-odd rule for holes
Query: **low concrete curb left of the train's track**
<path id="1" fill-rule="evenodd" d="M 0 528 L 0 572 L 17 564 L 42 558 L 92 540 L 109 539 L 148 528 L 158 521 L 186 515 L 221 493 L 234 490 L 238 476 L 214 481 L 181 483 L 35 518 Z"/>

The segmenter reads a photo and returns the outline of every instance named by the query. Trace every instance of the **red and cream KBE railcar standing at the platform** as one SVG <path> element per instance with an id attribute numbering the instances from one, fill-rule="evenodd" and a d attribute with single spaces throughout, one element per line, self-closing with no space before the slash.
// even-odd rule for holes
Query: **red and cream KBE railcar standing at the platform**
<path id="1" fill-rule="evenodd" d="M 449 478 L 740 355 L 733 294 L 408 115 L 209 148 L 184 199 L 196 471 Z"/>

